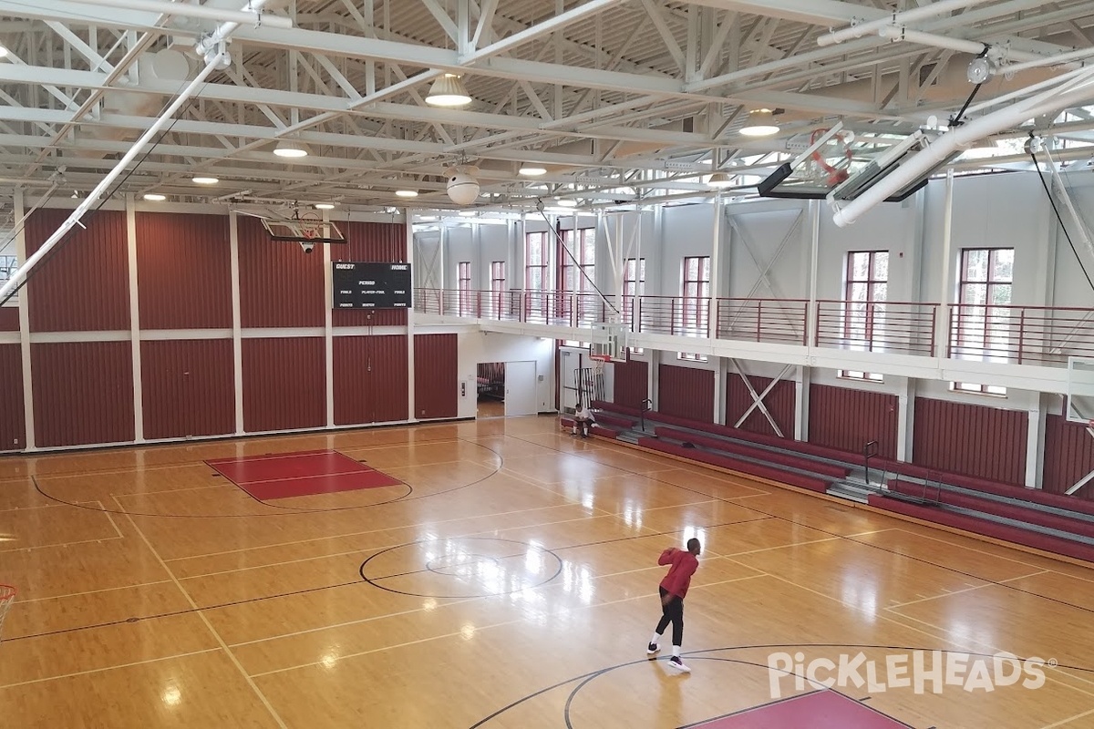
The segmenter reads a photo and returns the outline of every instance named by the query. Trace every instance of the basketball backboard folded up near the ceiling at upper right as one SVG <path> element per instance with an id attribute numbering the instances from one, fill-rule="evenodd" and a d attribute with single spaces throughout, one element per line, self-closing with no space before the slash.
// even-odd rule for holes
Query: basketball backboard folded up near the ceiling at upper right
<path id="1" fill-rule="evenodd" d="M 853 134 L 839 125 L 815 129 L 805 151 L 780 165 L 759 184 L 759 193 L 768 198 L 806 198 L 843 202 L 856 199 L 919 151 L 926 149 L 933 132 L 911 134 Z M 951 162 L 956 153 L 939 166 Z M 917 179 L 886 198 L 900 201 L 927 185 L 929 175 Z"/>

